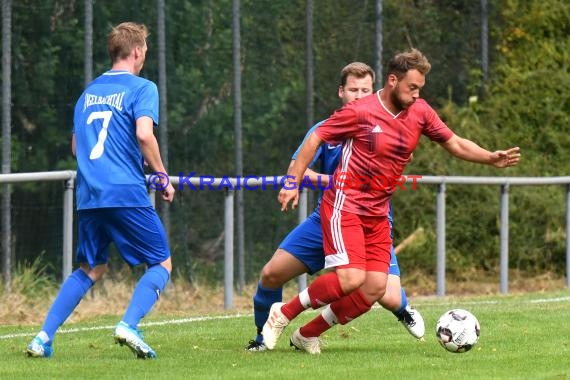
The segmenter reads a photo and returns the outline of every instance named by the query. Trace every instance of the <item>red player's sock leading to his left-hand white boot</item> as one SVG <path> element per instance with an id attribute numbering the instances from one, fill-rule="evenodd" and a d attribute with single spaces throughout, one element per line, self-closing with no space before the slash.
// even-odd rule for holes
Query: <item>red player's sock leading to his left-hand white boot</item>
<path id="1" fill-rule="evenodd" d="M 318 309 L 319 307 L 327 305 L 344 296 L 344 292 L 340 287 L 340 282 L 335 272 L 319 276 L 307 288 L 307 293 L 309 296 L 310 306 L 313 309 Z M 287 317 L 287 319 L 292 320 L 297 315 L 301 314 L 307 307 L 308 305 L 303 305 L 300 297 L 296 296 L 291 301 L 283 305 L 281 312 Z"/>

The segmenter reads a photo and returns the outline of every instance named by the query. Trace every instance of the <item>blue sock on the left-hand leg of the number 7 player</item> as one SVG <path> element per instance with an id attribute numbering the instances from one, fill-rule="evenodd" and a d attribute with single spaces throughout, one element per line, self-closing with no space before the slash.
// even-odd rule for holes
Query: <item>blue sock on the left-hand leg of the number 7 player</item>
<path id="1" fill-rule="evenodd" d="M 42 331 L 47 334 L 50 342 L 59 326 L 63 325 L 92 286 L 93 280 L 81 269 L 74 271 L 64 281 L 42 326 Z"/>

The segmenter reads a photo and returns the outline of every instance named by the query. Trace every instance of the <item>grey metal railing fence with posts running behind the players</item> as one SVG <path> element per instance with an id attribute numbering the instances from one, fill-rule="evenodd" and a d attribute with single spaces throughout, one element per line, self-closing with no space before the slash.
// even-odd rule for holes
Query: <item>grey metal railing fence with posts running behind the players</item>
<path id="1" fill-rule="evenodd" d="M 63 181 L 63 278 L 72 271 L 73 246 L 73 191 L 75 187 L 75 171 L 54 171 L 38 173 L 0 174 L 0 184 L 21 182 Z M 437 186 L 436 195 L 436 235 L 437 235 L 437 296 L 445 296 L 445 198 L 447 185 L 496 185 L 500 187 L 500 292 L 508 293 L 509 262 L 509 189 L 511 186 L 563 185 L 566 187 L 566 286 L 570 288 L 570 176 L 565 177 L 461 177 L 461 176 L 408 176 L 407 182 L 416 181 L 421 184 Z M 280 182 L 283 177 L 271 176 Z M 178 177 L 170 177 L 173 185 L 179 185 Z M 223 182 L 222 182 L 223 181 Z M 247 182 L 246 182 L 247 181 Z M 190 182 L 200 186 L 200 179 L 194 177 Z M 228 189 L 261 186 L 265 182 L 260 178 L 214 178 L 209 182 L 217 188 L 224 184 Z M 231 185 L 231 186 L 228 186 Z M 206 187 L 208 188 L 208 187 Z M 233 307 L 234 292 L 234 193 L 227 190 L 224 200 L 224 306 Z M 239 191 L 239 190 L 238 190 Z M 154 191 L 150 192 L 154 204 Z M 299 203 L 299 221 L 307 216 L 306 192 Z M 306 277 L 299 279 L 299 287 L 306 286 Z"/>

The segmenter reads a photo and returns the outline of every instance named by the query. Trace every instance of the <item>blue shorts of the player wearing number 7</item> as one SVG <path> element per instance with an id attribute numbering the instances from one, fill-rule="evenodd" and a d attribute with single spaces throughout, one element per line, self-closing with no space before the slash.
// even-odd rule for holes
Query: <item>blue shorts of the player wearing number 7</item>
<path id="1" fill-rule="evenodd" d="M 78 263 L 90 268 L 106 264 L 111 242 L 130 266 L 152 266 L 170 257 L 164 227 L 152 207 L 79 210 L 78 216 Z"/>

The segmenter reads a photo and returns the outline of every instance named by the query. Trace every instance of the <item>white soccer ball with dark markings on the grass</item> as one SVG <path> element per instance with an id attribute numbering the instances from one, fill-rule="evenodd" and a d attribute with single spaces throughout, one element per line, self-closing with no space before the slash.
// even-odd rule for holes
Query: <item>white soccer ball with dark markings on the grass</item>
<path id="1" fill-rule="evenodd" d="M 467 352 L 479 340 L 481 327 L 473 314 L 463 309 L 446 311 L 437 321 L 435 335 L 450 352 Z"/>

